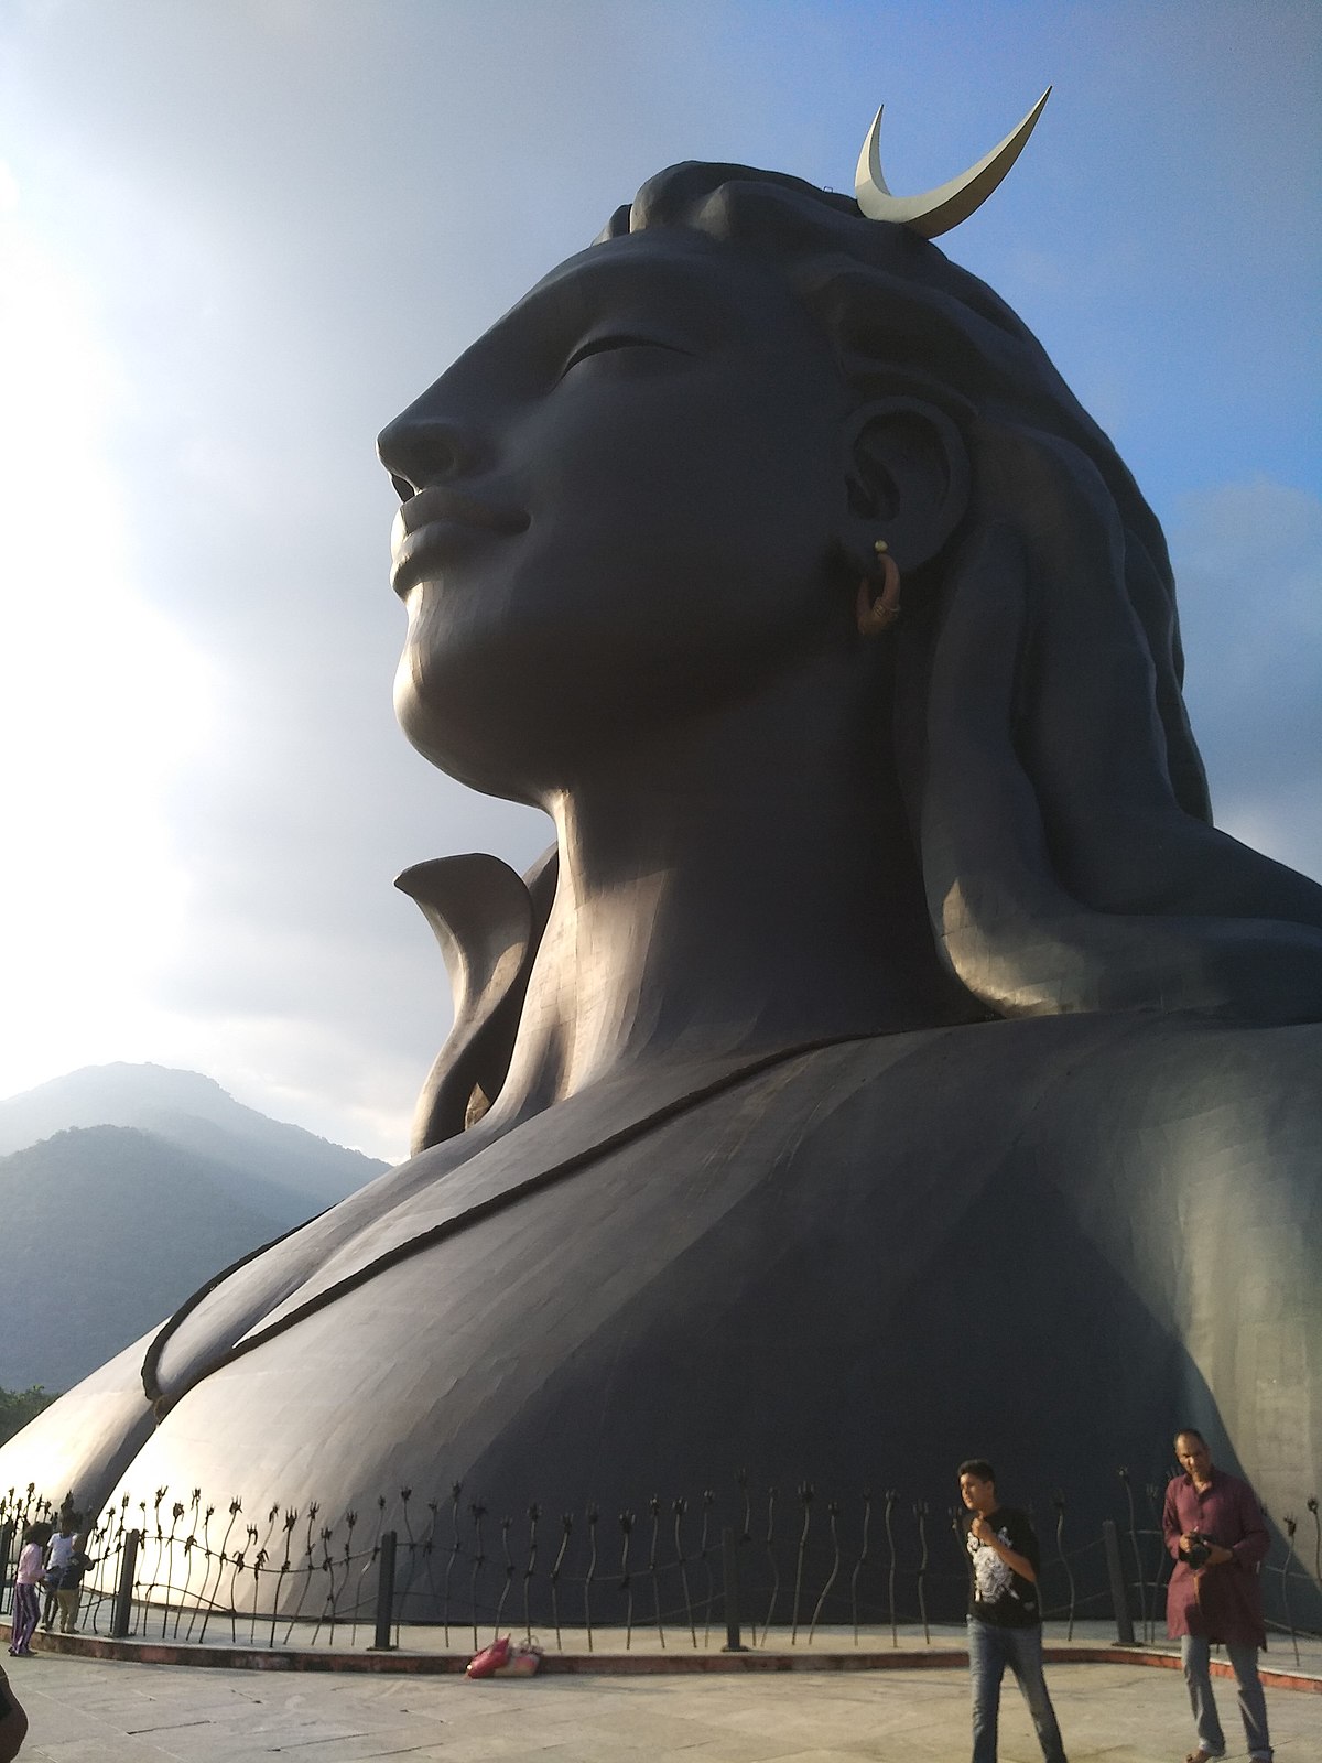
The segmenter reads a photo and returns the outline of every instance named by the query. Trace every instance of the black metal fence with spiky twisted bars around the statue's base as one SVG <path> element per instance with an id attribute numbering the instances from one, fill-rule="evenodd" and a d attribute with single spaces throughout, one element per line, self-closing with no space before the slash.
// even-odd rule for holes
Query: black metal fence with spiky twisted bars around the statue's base
<path id="1" fill-rule="evenodd" d="M 1049 1624 L 1114 1622 L 1123 1640 L 1163 1633 L 1170 1557 L 1163 1488 L 1118 1476 L 1116 1516 L 1073 1520 L 1063 1493 L 1033 1513 Z M 1031 1509 L 1029 1509 L 1031 1511 Z M 1318 1502 L 1274 1525 L 1264 1564 L 1271 1627 L 1296 1643 L 1322 1631 Z M 488 1511 L 460 1483 L 435 1499 L 402 1488 L 368 1511 L 208 1504 L 157 1488 L 125 1495 L 88 1534 L 83 1633 L 245 1648 L 395 1647 L 400 1627 L 439 1629 L 476 1650 L 494 1631 L 536 1629 L 550 1648 L 899 1647 L 955 1622 L 966 1597 L 947 1502 L 897 1491 L 830 1497 L 800 1484 L 754 1490 L 747 1476 L 698 1499 L 638 1511 Z M 0 1499 L 0 1611 L 9 1608 L 23 1527 L 58 1518 L 33 1486 Z M 1311 1558 L 1310 1558 L 1311 1557 Z M 940 1638 L 940 1636 L 938 1636 Z M 948 1636 L 947 1636 L 948 1638 Z"/>

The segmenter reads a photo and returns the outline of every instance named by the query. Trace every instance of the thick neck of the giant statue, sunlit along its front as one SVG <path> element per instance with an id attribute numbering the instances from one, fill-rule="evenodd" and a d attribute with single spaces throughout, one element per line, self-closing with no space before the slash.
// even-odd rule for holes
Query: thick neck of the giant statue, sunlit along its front
<path id="1" fill-rule="evenodd" d="M 888 742 L 806 686 L 672 725 L 546 802 L 559 889 L 501 1116 L 647 1063 L 968 1014 L 871 756 Z"/>

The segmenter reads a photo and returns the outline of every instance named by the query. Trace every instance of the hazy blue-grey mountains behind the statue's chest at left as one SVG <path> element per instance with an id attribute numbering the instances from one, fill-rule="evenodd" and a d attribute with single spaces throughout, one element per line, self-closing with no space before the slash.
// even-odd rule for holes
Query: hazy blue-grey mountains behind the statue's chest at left
<path id="1" fill-rule="evenodd" d="M 0 1102 L 0 1153 L 7 1389 L 67 1389 L 386 1167 L 159 1065 L 88 1067 Z"/>

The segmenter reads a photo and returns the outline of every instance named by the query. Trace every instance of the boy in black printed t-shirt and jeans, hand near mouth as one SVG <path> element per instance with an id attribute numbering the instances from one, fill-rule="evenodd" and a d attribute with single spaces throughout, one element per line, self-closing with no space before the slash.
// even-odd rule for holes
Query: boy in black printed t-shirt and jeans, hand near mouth
<path id="1" fill-rule="evenodd" d="M 959 1465 L 959 1497 L 969 1511 L 968 1663 L 973 1680 L 973 1763 L 996 1763 L 996 1722 L 1006 1664 L 1033 1715 L 1042 1756 L 1066 1763 L 1056 1710 L 1042 1675 L 1038 1539 L 1024 1513 L 996 1499 L 996 1472 L 985 1458 Z"/>

